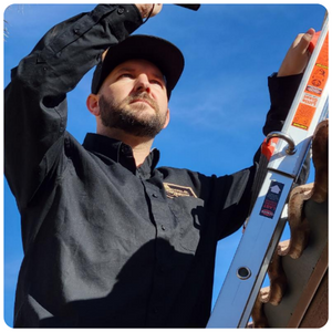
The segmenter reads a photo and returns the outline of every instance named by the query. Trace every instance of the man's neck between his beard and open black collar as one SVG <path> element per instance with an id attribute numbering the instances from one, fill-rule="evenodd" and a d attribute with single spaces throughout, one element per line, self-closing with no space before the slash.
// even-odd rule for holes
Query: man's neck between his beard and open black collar
<path id="1" fill-rule="evenodd" d="M 97 131 L 97 134 L 121 141 L 124 144 L 131 146 L 133 149 L 136 167 L 139 167 L 144 163 L 145 158 L 149 155 L 154 142 L 153 138 L 137 137 L 116 128 Z"/>

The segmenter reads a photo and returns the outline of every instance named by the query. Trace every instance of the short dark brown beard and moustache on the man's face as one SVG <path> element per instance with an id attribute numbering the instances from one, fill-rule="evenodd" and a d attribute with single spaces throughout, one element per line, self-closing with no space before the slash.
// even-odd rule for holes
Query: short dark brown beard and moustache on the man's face
<path id="1" fill-rule="evenodd" d="M 154 114 L 141 114 L 148 105 L 131 102 L 145 100 L 154 108 Z M 100 111 L 102 124 L 108 128 L 118 128 L 137 137 L 154 138 L 164 127 L 166 113 L 162 115 L 157 103 L 147 93 L 138 93 L 125 97 L 116 103 L 107 100 L 104 95 L 100 97 Z"/>

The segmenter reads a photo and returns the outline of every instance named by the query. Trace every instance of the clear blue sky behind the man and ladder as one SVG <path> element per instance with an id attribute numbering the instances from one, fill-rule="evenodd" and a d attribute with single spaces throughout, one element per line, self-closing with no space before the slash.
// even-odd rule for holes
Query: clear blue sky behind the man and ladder
<path id="1" fill-rule="evenodd" d="M 4 86 L 10 69 L 30 53 L 46 30 L 94 7 L 7 6 L 3 3 L 8 22 L 3 42 Z M 230 174 L 249 166 L 263 139 L 261 127 L 270 105 L 267 77 L 278 71 L 298 33 L 311 27 L 321 29 L 324 13 L 323 6 L 309 3 L 210 3 L 197 12 L 165 4 L 160 14 L 141 27 L 135 33 L 165 38 L 186 59 L 184 74 L 170 98 L 170 124 L 154 144 L 162 152 L 159 165 L 206 175 Z M 85 106 L 91 74 L 69 95 L 68 131 L 80 142 L 87 132 L 95 132 L 95 121 Z M 12 325 L 22 246 L 20 217 L 6 179 L 3 193 L 3 315 L 6 323 Z M 239 231 L 218 246 L 214 301 L 240 236 Z"/>

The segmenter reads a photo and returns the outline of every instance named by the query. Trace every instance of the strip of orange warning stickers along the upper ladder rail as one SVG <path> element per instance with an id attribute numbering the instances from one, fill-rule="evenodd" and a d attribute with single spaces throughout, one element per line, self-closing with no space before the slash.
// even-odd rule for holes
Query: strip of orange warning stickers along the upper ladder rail
<path id="1" fill-rule="evenodd" d="M 302 101 L 299 103 L 292 126 L 308 131 L 329 76 L 329 33 L 318 55 L 315 65 L 307 83 Z"/>

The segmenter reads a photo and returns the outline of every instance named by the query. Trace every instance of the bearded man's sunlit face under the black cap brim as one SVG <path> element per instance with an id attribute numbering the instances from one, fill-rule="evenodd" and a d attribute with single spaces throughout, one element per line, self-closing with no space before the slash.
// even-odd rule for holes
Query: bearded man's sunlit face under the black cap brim
<path id="1" fill-rule="evenodd" d="M 120 64 L 101 87 L 100 112 L 105 127 L 154 138 L 167 126 L 169 117 L 162 72 L 145 60 Z"/>

